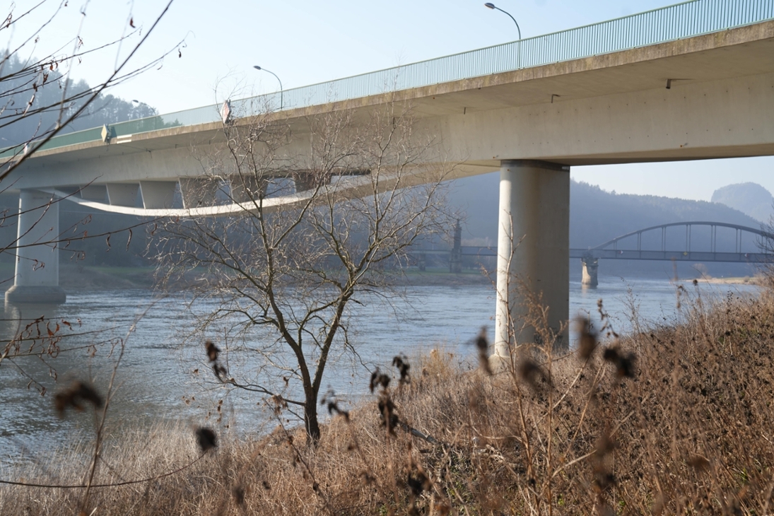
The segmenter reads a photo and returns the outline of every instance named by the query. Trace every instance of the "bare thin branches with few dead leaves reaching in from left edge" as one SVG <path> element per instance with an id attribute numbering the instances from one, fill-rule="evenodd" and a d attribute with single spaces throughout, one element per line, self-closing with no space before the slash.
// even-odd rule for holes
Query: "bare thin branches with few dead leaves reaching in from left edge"
<path id="1" fill-rule="evenodd" d="M 0 193 L 5 193 L 14 187 L 8 179 L 10 173 L 33 156 L 42 145 L 62 132 L 64 128 L 77 123 L 80 118 L 94 114 L 94 111 L 107 117 L 118 115 L 121 110 L 129 117 L 143 113 L 151 114 L 150 108 L 142 106 L 133 108 L 128 102 L 106 95 L 106 90 L 120 84 L 123 80 L 149 70 L 150 67 L 158 66 L 165 56 L 175 53 L 175 50 L 180 55 L 182 41 L 178 46 L 159 53 L 153 60 L 135 64 L 134 59 L 137 50 L 146 43 L 149 35 L 170 9 L 172 1 L 169 0 L 163 6 L 149 26 L 142 27 L 139 21 L 135 26 L 131 12 L 128 13 L 125 31 L 108 41 L 86 44 L 80 37 L 80 28 L 74 27 L 73 37 L 67 45 L 44 56 L 34 55 L 38 50 L 39 39 L 53 32 L 53 21 L 63 14 L 63 9 L 77 9 L 77 7 L 68 8 L 68 2 L 65 0 L 38 0 L 22 4 L 21 7 L 16 4 L 9 7 L 5 20 L 0 24 L 0 35 L 6 36 L 9 32 L 16 31 L 13 38 L 8 37 L 6 40 L 17 43 L 13 45 L 9 43 L 9 46 L 0 54 L 0 132 L 4 135 L 12 135 L 13 139 L 7 142 L 14 145 L 3 149 L 0 154 Z M 53 6 L 53 9 L 46 21 L 29 32 L 23 32 L 24 29 L 17 31 L 19 22 L 42 13 L 49 6 Z M 86 9 L 87 5 L 80 8 L 81 19 L 86 16 Z M 89 86 L 84 81 L 75 82 L 70 79 L 69 74 L 74 63 L 88 60 L 97 53 L 111 52 L 115 52 L 116 55 L 115 66 L 104 71 L 104 77 L 98 84 Z M 128 111 L 132 112 L 128 113 Z M 96 119 L 92 118 L 92 120 L 94 125 L 98 124 Z M 104 120 L 108 121 L 108 118 Z M 45 212 L 53 206 L 53 203 L 60 201 L 61 199 L 52 196 L 49 203 L 40 211 Z M 18 218 L 18 211 L 3 212 L 0 214 L 0 226 L 14 227 Z M 109 233 L 87 234 L 84 227 L 89 220 L 91 217 L 86 217 L 63 231 L 50 231 L 45 238 L 36 241 L 35 245 L 45 244 L 52 248 L 66 248 L 70 242 L 98 237 L 101 241 L 108 239 L 109 246 Z M 77 245 L 75 244 L 74 247 Z M 0 247 L 0 254 L 15 252 L 17 248 L 19 248 L 18 239 L 12 238 L 12 241 Z M 80 252 L 80 255 L 82 254 Z M 33 268 L 43 265 L 42 263 L 29 264 Z M 80 335 L 67 321 L 40 317 L 26 327 L 19 326 L 15 337 L 2 342 L 0 364 L 4 361 L 11 362 L 21 374 L 29 377 L 31 385 L 35 385 L 43 393 L 45 391 L 43 385 L 29 376 L 16 361 L 24 360 L 23 357 L 36 356 L 46 364 L 50 364 L 47 359 L 56 357 L 60 352 L 83 350 L 82 346 L 63 345 L 63 339 L 72 337 L 74 340 L 80 338 Z M 51 367 L 53 370 L 53 365 Z"/>

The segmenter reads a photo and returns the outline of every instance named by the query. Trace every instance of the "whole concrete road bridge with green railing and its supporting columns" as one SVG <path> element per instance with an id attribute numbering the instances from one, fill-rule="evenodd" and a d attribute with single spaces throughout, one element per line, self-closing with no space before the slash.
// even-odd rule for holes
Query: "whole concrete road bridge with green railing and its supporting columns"
<path id="1" fill-rule="evenodd" d="M 500 170 L 495 348 L 505 355 L 509 340 L 532 338 L 532 330 L 509 333 L 508 302 L 520 304 L 508 292 L 510 279 L 543 292 L 557 331 L 567 320 L 570 166 L 774 154 L 774 0 L 683 2 L 231 101 L 231 111 L 277 108 L 280 95 L 282 109 L 272 116 L 290 123 L 409 103 L 417 130 L 435 135 L 439 155 L 460 163 L 457 176 Z M 6 179 L 20 191 L 22 214 L 15 284 L 6 299 L 64 300 L 50 247 L 36 245 L 57 230 L 52 196 L 75 193 L 68 199 L 124 214 L 241 210 L 190 195 L 202 173 L 190 149 L 223 145 L 220 108 L 60 135 L 17 167 Z M 13 162 L 21 152 L 7 149 L 0 159 Z M 305 195 L 303 171 L 294 177 L 296 193 L 272 200 L 277 207 Z M 345 180 L 356 192 L 367 178 Z M 173 206 L 175 191 L 181 207 Z M 33 270 L 30 260 L 50 263 Z M 560 338 L 566 337 L 565 330 Z"/>

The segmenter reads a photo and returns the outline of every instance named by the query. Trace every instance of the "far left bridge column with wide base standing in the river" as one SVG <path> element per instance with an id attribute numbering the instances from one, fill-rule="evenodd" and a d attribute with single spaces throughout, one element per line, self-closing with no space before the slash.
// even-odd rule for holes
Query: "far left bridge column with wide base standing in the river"
<path id="1" fill-rule="evenodd" d="M 59 203 L 50 193 L 22 190 L 16 223 L 16 271 L 5 301 L 65 302 L 59 286 Z"/>

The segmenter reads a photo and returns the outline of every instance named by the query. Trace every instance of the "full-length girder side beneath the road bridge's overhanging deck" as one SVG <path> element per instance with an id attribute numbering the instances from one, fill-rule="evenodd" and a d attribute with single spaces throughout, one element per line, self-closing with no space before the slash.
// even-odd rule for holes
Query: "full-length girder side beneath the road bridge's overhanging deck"
<path id="1" fill-rule="evenodd" d="M 566 165 L 774 155 L 769 118 L 774 73 L 677 83 L 670 90 L 562 98 L 553 104 L 419 118 L 414 132 L 434 135 L 440 142 L 435 146 L 439 152 L 428 154 L 425 165 L 457 162 L 472 173 L 487 173 L 514 155 Z M 303 155 L 310 146 L 307 138 L 298 134 L 283 150 Z M 215 145 L 211 150 L 217 150 Z M 89 181 L 176 180 L 204 169 L 190 149 L 180 148 L 152 155 L 110 152 L 98 159 L 65 160 L 56 167 L 47 163 L 54 158 L 30 159 L 16 184 L 60 188 Z M 288 173 L 277 170 L 277 176 Z"/>

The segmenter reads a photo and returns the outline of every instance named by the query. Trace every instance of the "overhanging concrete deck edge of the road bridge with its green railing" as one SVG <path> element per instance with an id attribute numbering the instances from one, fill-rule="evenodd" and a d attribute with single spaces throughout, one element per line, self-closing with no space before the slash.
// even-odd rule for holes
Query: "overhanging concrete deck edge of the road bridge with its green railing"
<path id="1" fill-rule="evenodd" d="M 336 109 L 337 104 L 341 108 L 384 104 L 385 93 L 393 100 L 412 100 L 418 113 L 433 116 L 642 91 L 663 86 L 670 78 L 677 84 L 678 80 L 768 73 L 774 70 L 774 22 L 767 23 L 772 19 L 774 0 L 693 0 L 590 26 L 293 88 L 283 91 L 282 116 L 303 117 Z M 248 116 L 277 106 L 279 94 L 274 93 L 234 101 L 231 108 L 239 116 Z M 123 121 L 109 129 L 122 153 L 169 149 L 189 145 L 190 138 L 180 138 L 183 135 L 216 135 L 221 127 L 220 108 L 214 104 Z M 46 155 L 57 155 L 57 162 L 98 156 L 104 152 L 101 131 L 93 128 L 57 135 L 39 149 L 38 160 Z M 130 143 L 134 145 L 122 145 Z M 0 161 L 12 159 L 22 148 L 19 145 L 3 150 Z M 96 152 L 84 152 L 87 149 Z M 67 155 L 61 155 L 61 151 Z"/>

